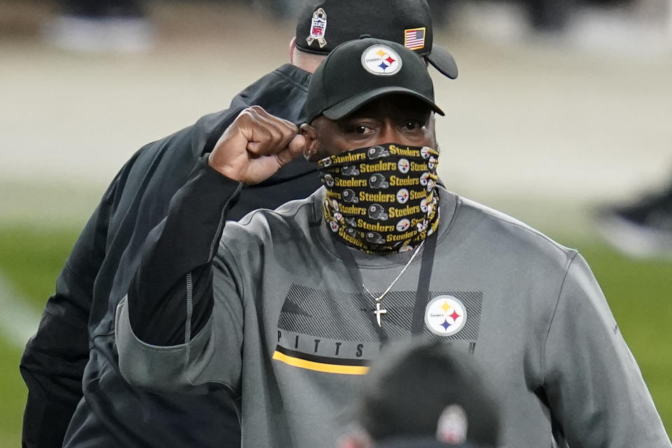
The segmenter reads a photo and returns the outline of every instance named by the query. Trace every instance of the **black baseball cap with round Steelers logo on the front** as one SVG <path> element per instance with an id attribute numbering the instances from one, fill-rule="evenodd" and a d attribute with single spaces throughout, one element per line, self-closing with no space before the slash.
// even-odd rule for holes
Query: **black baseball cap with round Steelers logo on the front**
<path id="1" fill-rule="evenodd" d="M 310 78 L 307 123 L 318 116 L 338 120 L 373 99 L 402 93 L 421 99 L 436 113 L 434 85 L 425 63 L 396 42 L 360 38 L 337 46 Z"/>

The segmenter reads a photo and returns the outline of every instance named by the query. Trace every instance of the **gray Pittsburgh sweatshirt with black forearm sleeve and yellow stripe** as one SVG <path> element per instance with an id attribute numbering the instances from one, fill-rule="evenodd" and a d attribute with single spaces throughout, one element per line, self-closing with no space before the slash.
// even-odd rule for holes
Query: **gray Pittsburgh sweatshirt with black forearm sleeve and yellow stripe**
<path id="1" fill-rule="evenodd" d="M 227 388 L 243 447 L 335 447 L 381 342 L 415 333 L 483 366 L 490 386 L 475 387 L 494 388 L 506 447 L 672 446 L 576 251 L 439 188 L 428 293 L 417 297 L 421 252 L 382 300 L 378 328 L 353 262 L 379 295 L 410 253 L 344 257 L 323 221 L 323 189 L 223 225 L 239 188 L 202 160 L 148 239 L 116 314 L 130 383 Z"/>

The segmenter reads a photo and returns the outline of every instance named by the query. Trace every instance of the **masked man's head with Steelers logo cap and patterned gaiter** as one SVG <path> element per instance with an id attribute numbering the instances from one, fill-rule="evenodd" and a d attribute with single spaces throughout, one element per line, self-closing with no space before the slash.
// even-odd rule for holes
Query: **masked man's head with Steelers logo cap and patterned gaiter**
<path id="1" fill-rule="evenodd" d="M 423 59 L 398 43 L 344 43 L 315 71 L 304 155 L 318 162 L 325 219 L 342 242 L 395 253 L 436 230 L 434 113 L 443 115 Z"/>

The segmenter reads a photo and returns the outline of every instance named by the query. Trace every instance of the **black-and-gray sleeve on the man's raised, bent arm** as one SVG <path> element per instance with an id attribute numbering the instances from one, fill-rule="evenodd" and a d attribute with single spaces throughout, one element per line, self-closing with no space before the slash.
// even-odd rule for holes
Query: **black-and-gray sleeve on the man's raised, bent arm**
<path id="1" fill-rule="evenodd" d="M 139 269 L 117 307 L 119 367 L 134 386 L 162 391 L 237 386 L 242 305 L 234 276 L 213 258 L 241 183 L 209 167 L 207 157 L 197 162 L 167 217 L 148 235 Z M 214 276 L 223 297 L 216 313 Z M 225 365 L 218 364 L 222 359 Z"/>

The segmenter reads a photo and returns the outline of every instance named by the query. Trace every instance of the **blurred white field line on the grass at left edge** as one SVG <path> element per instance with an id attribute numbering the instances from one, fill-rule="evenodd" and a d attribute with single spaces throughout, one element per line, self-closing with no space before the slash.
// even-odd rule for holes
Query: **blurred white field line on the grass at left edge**
<path id="1" fill-rule="evenodd" d="M 16 293 L 0 274 L 0 336 L 15 349 L 25 349 L 37 331 L 41 315 Z"/>

